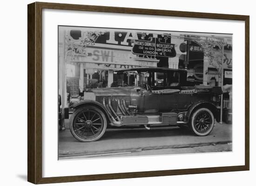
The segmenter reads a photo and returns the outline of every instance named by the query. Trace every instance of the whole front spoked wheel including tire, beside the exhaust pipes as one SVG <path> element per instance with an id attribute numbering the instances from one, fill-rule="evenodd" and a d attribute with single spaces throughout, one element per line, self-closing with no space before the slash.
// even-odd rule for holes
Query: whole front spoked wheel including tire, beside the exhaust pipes
<path id="1" fill-rule="evenodd" d="M 96 141 L 105 133 L 107 119 L 100 109 L 86 106 L 74 111 L 69 128 L 72 135 L 79 141 Z"/>

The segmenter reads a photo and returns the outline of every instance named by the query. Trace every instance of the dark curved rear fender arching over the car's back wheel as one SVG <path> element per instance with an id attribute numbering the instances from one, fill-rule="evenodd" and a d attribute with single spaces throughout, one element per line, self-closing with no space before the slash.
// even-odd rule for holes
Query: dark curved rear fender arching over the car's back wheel
<path id="1" fill-rule="evenodd" d="M 195 109 L 202 108 L 202 107 L 210 109 L 214 117 L 216 118 L 217 122 L 219 122 L 220 115 L 219 115 L 218 109 L 216 108 L 216 105 L 208 101 L 196 102 L 191 107 L 189 107 L 189 110 L 187 112 L 187 121 L 189 122 L 190 116 L 192 115 Z"/>

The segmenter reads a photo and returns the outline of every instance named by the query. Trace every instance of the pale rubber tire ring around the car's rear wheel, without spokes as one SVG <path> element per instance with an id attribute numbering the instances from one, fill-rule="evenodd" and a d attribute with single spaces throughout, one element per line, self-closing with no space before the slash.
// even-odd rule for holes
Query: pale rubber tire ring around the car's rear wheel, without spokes
<path id="1" fill-rule="evenodd" d="M 210 129 L 209 129 L 206 133 L 199 133 L 199 132 L 196 131 L 196 129 L 195 129 L 195 127 L 194 127 L 195 116 L 196 116 L 199 112 L 201 112 L 201 111 L 207 111 L 207 112 L 211 115 L 211 117 L 212 117 L 212 124 L 211 124 L 211 126 L 210 126 Z M 191 116 L 191 120 L 190 120 L 190 129 L 191 129 L 191 131 L 192 131 L 195 135 L 198 135 L 198 136 L 206 136 L 206 135 L 209 135 L 210 132 L 213 130 L 213 128 L 214 128 L 214 123 L 215 123 L 215 118 L 214 118 L 213 113 L 212 113 L 209 109 L 207 109 L 207 108 L 200 108 L 200 109 L 195 110 L 195 111 L 193 112 L 192 116 Z"/>

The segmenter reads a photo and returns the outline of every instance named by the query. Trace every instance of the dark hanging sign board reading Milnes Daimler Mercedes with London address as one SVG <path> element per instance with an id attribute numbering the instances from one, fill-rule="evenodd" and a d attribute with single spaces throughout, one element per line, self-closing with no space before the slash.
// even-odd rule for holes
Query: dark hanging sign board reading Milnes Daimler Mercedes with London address
<path id="1" fill-rule="evenodd" d="M 147 40 L 134 40 L 132 52 L 138 55 L 158 56 L 158 57 L 175 57 L 176 51 L 174 44 L 162 43 L 159 38 Z"/>

